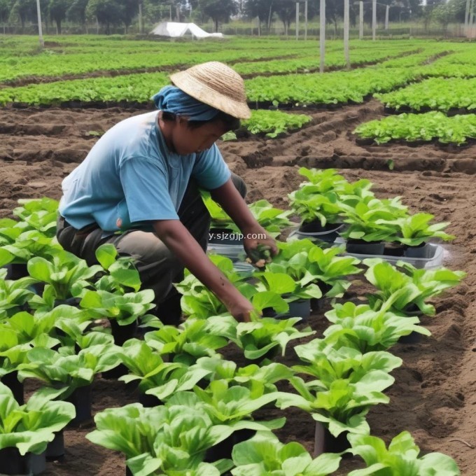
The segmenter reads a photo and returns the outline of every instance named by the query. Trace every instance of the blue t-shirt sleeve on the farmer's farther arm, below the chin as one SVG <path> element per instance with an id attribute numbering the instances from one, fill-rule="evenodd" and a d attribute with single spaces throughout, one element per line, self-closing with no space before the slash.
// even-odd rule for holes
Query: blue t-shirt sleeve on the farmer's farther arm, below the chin
<path id="1" fill-rule="evenodd" d="M 193 176 L 199 186 L 207 190 L 221 187 L 230 179 L 230 169 L 225 164 L 216 144 L 198 155 L 193 167 Z"/>

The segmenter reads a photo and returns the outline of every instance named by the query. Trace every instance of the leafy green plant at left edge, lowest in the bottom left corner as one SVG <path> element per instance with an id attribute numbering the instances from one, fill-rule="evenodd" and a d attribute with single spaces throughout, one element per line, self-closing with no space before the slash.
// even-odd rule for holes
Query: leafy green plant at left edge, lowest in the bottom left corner
<path id="1" fill-rule="evenodd" d="M 72 403 L 54 401 L 55 393 L 34 393 L 18 405 L 10 388 L 0 382 L 0 448 L 16 447 L 21 455 L 40 454 L 55 432 L 75 416 Z"/>

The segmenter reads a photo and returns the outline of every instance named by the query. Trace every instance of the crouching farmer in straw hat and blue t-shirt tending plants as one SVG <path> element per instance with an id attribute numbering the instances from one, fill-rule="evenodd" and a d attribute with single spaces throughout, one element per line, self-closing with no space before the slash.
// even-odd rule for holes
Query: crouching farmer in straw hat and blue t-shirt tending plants
<path id="1" fill-rule="evenodd" d="M 89 265 L 104 243 L 132 256 L 142 287 L 155 291 L 155 314 L 165 323 L 179 323 L 181 295 L 172 283 L 183 279 L 184 267 L 232 316 L 248 321 L 251 302 L 205 253 L 210 216 L 198 190 L 210 190 L 235 221 L 246 251 L 264 244 L 277 253 L 244 202 L 244 182 L 230 174 L 215 144 L 251 116 L 244 81 L 220 62 L 170 78 L 174 85 L 153 97 L 158 111 L 112 127 L 64 179 L 57 239 Z"/>

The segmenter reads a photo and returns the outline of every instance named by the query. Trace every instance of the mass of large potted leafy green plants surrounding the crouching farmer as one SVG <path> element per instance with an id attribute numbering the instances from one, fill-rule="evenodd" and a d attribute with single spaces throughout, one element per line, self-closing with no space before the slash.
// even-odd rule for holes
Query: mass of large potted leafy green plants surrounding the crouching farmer
<path id="1" fill-rule="evenodd" d="M 346 223 L 349 237 L 367 241 L 383 239 L 383 230 L 405 246 L 450 238 L 442 232 L 446 223 L 428 226 L 433 217 L 410 216 L 398 197 L 377 200 L 368 181 L 349 183 L 335 171 L 301 172 L 308 181 L 290 195 L 292 210 L 277 210 L 263 201 L 250 206 L 274 235 L 289 225 L 293 211 L 302 224 L 316 218 L 321 225 Z M 350 213 L 349 207 L 356 211 Z M 314 216 L 311 209 L 316 209 Z M 212 212 L 216 223 L 226 225 L 226 216 Z M 0 414 L 1 428 L 7 428 L 3 434 L 8 442 L 3 447 L 17 448 L 30 459 L 31 454 L 46 456 L 44 451 L 55 458 L 48 442 L 61 435 L 73 416 L 63 400 L 76 408 L 74 423 L 87 419 L 90 408 L 84 410 L 82 404 L 90 400 L 87 393 L 78 398 L 78 391 L 87 390 L 97 374 L 113 372 L 125 383 L 137 384 L 139 403 L 100 412 L 97 429 L 87 437 L 122 451 L 134 475 L 212 476 L 228 470 L 235 476 L 271 470 L 327 475 L 337 470 L 346 451 L 365 461 L 366 469 L 351 472 L 353 476 L 377 468 L 416 468 L 425 476 L 437 467 L 459 474 L 449 456 L 420 458 L 407 432 L 395 436 L 387 449 L 370 435 L 365 416 L 373 405 L 388 402 L 383 391 L 394 381 L 390 372 L 402 365 L 388 349 L 412 332 L 429 335 L 414 314 L 435 314 L 428 299 L 455 286 L 463 272 L 416 269 L 408 262 L 398 267 L 382 260 L 361 263 L 342 255 L 342 247 L 279 241 L 279 255 L 255 271 L 238 272 L 228 258 L 211 257 L 257 311 L 274 317 L 237 323 L 195 276 L 186 274 L 177 288 L 187 319 L 176 328 L 148 314 L 153 292 L 140 290 L 130 259 L 118 257 L 113 246 L 100 247 L 99 264 L 92 267 L 59 247 L 55 201 L 27 202 L 13 213 L 20 221 L 0 222 L 0 265 L 10 266 L 10 278 L 18 277 L 12 275 L 18 265 L 27 275 L 0 281 L 0 379 L 17 384 L 20 400 L 15 402 L 0 384 L 0 407 L 6 409 Z M 363 228 L 363 217 L 372 228 Z M 396 223 L 399 218 L 405 226 Z M 293 316 L 293 303 L 314 299 L 319 305 L 323 296 L 343 297 L 351 284 L 347 276 L 363 269 L 373 286 L 367 304 L 332 302 L 325 314 L 332 325 L 323 338 L 311 340 L 314 331 L 297 328 L 301 319 Z M 98 325 L 98 318 L 109 320 L 112 335 Z M 144 339 L 129 339 L 137 322 L 146 331 Z M 299 365 L 272 361 L 286 352 L 289 342 L 302 338 L 309 342 L 295 346 Z M 249 365 L 239 367 L 223 358 L 219 351 L 230 345 L 241 349 Z M 21 405 L 18 384 L 27 378 L 44 386 Z M 292 391 L 283 391 L 286 382 Z M 283 445 L 270 433 L 284 419 L 253 415 L 269 406 L 309 413 L 326 435 L 316 438 L 315 458 L 300 444 Z M 61 418 L 53 422 L 52 412 Z M 342 442 L 344 447 L 327 446 Z"/>

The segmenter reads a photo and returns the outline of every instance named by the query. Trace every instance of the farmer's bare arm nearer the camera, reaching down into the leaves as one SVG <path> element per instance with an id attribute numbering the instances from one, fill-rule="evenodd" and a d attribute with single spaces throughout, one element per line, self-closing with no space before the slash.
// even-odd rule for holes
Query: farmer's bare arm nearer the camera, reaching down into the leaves
<path id="1" fill-rule="evenodd" d="M 209 260 L 200 244 L 179 220 L 160 220 L 153 224 L 158 237 L 197 279 L 218 297 L 238 321 L 249 321 L 253 305 Z"/>

